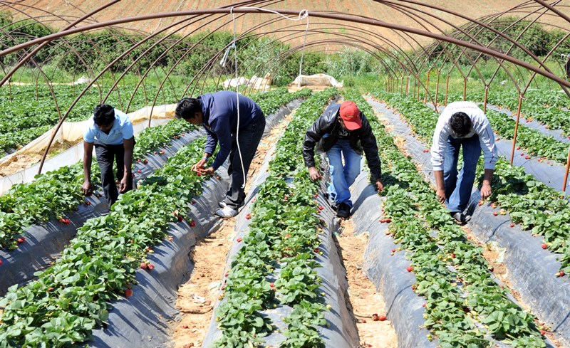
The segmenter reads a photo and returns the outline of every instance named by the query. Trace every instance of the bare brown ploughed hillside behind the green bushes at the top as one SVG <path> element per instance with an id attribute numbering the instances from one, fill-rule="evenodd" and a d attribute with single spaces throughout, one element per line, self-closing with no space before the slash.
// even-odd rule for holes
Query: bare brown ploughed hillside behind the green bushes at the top
<path id="1" fill-rule="evenodd" d="M 470 16 L 474 19 L 480 18 L 482 16 L 487 16 L 489 14 L 496 14 L 500 11 L 507 11 L 508 9 L 521 4 L 521 0 L 477 0 L 477 1 L 457 1 L 457 0 L 431 0 L 431 1 L 420 1 L 422 4 L 430 4 L 433 6 L 440 6 L 442 8 L 448 9 L 450 11 L 455 11 L 465 16 Z M 249 6 L 253 5 L 254 1 L 249 1 Z M 365 16 L 371 19 L 377 19 L 378 21 L 385 21 L 388 23 L 396 23 L 403 26 L 413 26 L 415 28 L 422 28 L 423 30 L 429 30 L 434 32 L 448 31 L 451 28 L 450 23 L 461 25 L 466 23 L 465 19 L 458 16 L 453 16 L 452 14 L 446 14 L 445 11 L 429 9 L 425 6 L 419 6 L 417 4 L 411 4 L 408 1 L 385 1 L 384 3 L 369 1 L 369 0 L 312 0 L 312 1 L 257 1 L 257 6 L 266 6 L 270 9 L 291 9 L 291 10 L 301 10 L 307 9 L 309 13 L 311 11 L 331 11 L 340 12 L 345 14 L 352 14 L 355 16 Z M 532 1 L 531 1 L 532 3 Z M 569 3 L 570 1 L 564 0 L 561 3 Z M 21 1 L 18 4 L 12 4 L 14 6 L 10 11 L 14 13 L 14 19 L 23 19 L 26 16 L 33 16 L 33 18 L 39 19 L 41 21 L 49 23 L 51 26 L 56 28 L 62 28 L 66 25 L 66 21 L 73 21 L 78 16 L 82 16 L 89 11 L 93 11 L 97 6 L 103 4 L 99 1 L 62 1 L 62 0 L 38 0 L 38 1 Z M 145 16 L 149 14 L 174 12 L 174 11 L 192 11 L 197 9 L 214 9 L 220 6 L 229 6 L 232 4 L 230 1 L 213 0 L 213 1 L 190 1 L 190 0 L 123 0 L 118 1 L 117 4 L 113 4 L 98 14 L 95 14 L 90 22 L 93 21 L 110 21 L 113 19 L 126 18 L 131 16 Z M 243 4 L 243 2 L 242 2 Z M 395 9 L 393 5 L 401 6 L 400 10 Z M 532 3 L 534 4 L 534 3 Z M 562 4 L 564 5 L 564 4 Z M 568 4 L 566 4 L 568 5 Z M 535 6 L 535 5 L 533 5 Z M 559 5 L 560 7 L 561 5 Z M 3 9 L 9 9 L 8 6 L 4 5 Z M 42 10 L 40 10 L 42 9 Z M 423 14 L 418 11 L 410 11 L 409 14 L 405 13 L 403 9 L 422 9 Z M 534 9 L 532 9 L 534 10 Z M 566 11 L 565 9 L 563 9 Z M 25 12 L 26 15 L 22 14 Z M 523 16 L 526 14 L 527 10 L 522 9 L 522 12 L 514 14 L 515 16 Z M 435 16 L 440 16 L 442 20 L 433 19 L 429 16 L 433 14 Z M 238 33 L 246 31 L 252 26 L 255 26 L 264 21 L 279 18 L 274 14 L 247 14 L 243 18 L 237 19 L 235 26 Z M 64 20 L 63 20 L 64 19 Z M 135 21 L 132 23 L 125 23 L 121 26 L 125 28 L 135 29 L 138 31 L 144 31 L 146 33 L 154 33 L 166 28 L 167 26 L 180 21 L 181 19 L 187 19 L 187 17 L 170 17 L 163 19 L 148 19 L 144 21 Z M 197 23 L 185 23 L 184 26 L 178 25 L 175 28 L 170 29 L 170 31 L 177 31 L 180 34 L 187 34 L 195 30 L 208 30 L 214 31 L 218 28 L 222 30 L 232 31 L 232 17 L 229 15 L 215 16 L 212 19 L 208 19 L 210 23 L 206 23 L 206 20 L 199 21 Z M 546 21 L 549 23 L 562 22 L 554 17 L 543 16 L 541 21 Z M 420 22 L 420 23 L 418 23 Z M 449 23 L 446 23 L 449 22 Z M 268 26 L 264 26 L 257 30 L 258 33 L 268 33 L 270 35 L 277 35 L 275 32 L 279 31 L 280 28 L 296 28 L 304 29 L 306 21 L 293 22 L 293 21 L 276 21 Z M 338 33 L 341 36 L 337 36 L 337 40 L 345 41 L 346 36 L 343 34 L 350 34 L 353 36 L 355 32 L 351 28 L 353 24 L 351 22 L 337 22 L 331 25 L 331 21 L 324 19 L 317 19 L 315 17 L 310 18 L 310 30 L 320 31 L 321 33 L 315 33 L 311 35 L 308 42 L 318 41 L 323 38 L 331 38 L 330 34 Z M 430 38 L 415 37 L 415 41 L 408 41 L 408 36 L 400 35 L 400 33 L 395 33 L 389 29 L 380 28 L 377 26 L 363 26 L 357 25 L 356 28 L 361 28 L 363 31 L 368 31 L 377 34 L 378 38 L 375 39 L 375 43 L 381 46 L 386 46 L 386 42 L 391 42 L 393 46 L 399 46 L 401 48 L 408 48 L 408 46 L 418 46 L 418 44 L 425 44 L 431 41 Z M 283 33 L 282 35 L 290 34 L 291 32 Z M 302 37 L 297 35 L 296 38 L 288 38 L 294 45 L 302 44 Z M 366 40 L 370 40 L 367 36 Z M 416 42 L 417 41 L 417 42 Z M 351 43 L 347 43 L 350 45 Z M 342 46 L 342 45 L 341 45 Z M 338 47 L 338 46 L 337 46 Z M 318 45 L 312 49 L 318 49 L 319 51 L 333 50 L 335 49 L 333 45 L 328 44 L 323 47 L 323 45 Z"/>

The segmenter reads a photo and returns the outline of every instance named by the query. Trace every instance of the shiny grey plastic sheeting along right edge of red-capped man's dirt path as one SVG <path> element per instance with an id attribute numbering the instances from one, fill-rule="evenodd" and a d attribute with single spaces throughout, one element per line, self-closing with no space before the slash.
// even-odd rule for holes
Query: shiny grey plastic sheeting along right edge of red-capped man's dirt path
<path id="1" fill-rule="evenodd" d="M 381 151 L 381 149 L 380 149 Z M 422 328 L 425 300 L 415 294 L 412 285 L 415 275 L 405 268 L 410 261 L 405 253 L 398 252 L 390 256 L 392 249 L 398 248 L 394 240 L 385 233 L 388 223 L 380 223 L 380 206 L 385 197 L 378 196 L 370 184 L 368 172 L 363 171 L 356 178 L 351 191 L 356 198 L 352 216 L 355 233 L 368 233 L 368 246 L 364 253 L 363 271 L 382 293 L 386 307 L 386 317 L 394 325 L 399 348 L 437 347 L 437 339 L 432 342 L 426 335 L 430 332 Z"/>

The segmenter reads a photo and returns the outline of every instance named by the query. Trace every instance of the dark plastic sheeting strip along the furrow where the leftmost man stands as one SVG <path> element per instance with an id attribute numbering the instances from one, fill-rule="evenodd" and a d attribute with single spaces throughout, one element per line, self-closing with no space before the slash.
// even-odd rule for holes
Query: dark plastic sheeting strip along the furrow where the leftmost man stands
<path id="1" fill-rule="evenodd" d="M 156 169 L 162 167 L 168 157 L 172 156 L 177 149 L 192 142 L 197 137 L 203 136 L 205 132 L 189 132 L 181 135 L 180 138 L 172 140 L 170 146 L 164 147 L 165 154 L 149 154 L 146 159 L 148 164 L 135 162 L 133 181 L 145 179 Z M 138 173 L 137 171 L 141 172 Z M 102 194 L 102 192 L 97 192 Z M 0 295 L 5 295 L 11 285 L 22 285 L 36 277 L 33 273 L 48 268 L 53 260 L 66 247 L 71 238 L 77 233 L 77 228 L 83 226 L 90 218 L 101 216 L 108 212 L 108 205 L 104 196 L 97 198 L 95 194 L 86 197 L 90 202 L 89 206 L 81 204 L 78 211 L 71 211 L 64 214 L 71 223 L 65 225 L 55 218 L 51 218 L 46 223 L 30 226 L 24 233 L 26 242 L 21 243 L 13 251 L 0 250 L 0 260 L 2 260 L 2 276 L 0 277 Z"/>

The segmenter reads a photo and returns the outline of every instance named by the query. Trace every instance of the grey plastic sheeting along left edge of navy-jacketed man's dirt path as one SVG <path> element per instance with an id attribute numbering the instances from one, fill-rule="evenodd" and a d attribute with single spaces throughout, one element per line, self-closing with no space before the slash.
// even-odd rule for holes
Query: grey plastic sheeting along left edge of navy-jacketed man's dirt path
<path id="1" fill-rule="evenodd" d="M 266 132 L 299 103 L 299 100 L 294 100 L 268 115 Z M 227 191 L 228 163 L 226 161 L 217 171 L 219 180 L 211 178 L 204 182 L 203 193 L 196 197 L 196 204 L 189 206 L 190 213 L 185 221 L 171 223 L 167 233 L 173 237 L 172 241 L 161 243 L 154 248 L 155 253 L 147 256 L 155 269 L 137 271 L 138 285 L 133 287 L 133 295 L 113 302 L 108 325 L 93 330 L 93 340 L 86 344 L 88 347 L 175 346 L 170 323 L 180 321 L 181 318 L 180 311 L 175 308 L 178 287 L 190 279 L 194 270 L 190 258 L 192 248 L 209 233 L 217 231 L 222 223 L 222 219 L 215 216 L 214 212 Z M 194 227 L 190 227 L 187 222 L 191 218 L 196 222 Z"/>

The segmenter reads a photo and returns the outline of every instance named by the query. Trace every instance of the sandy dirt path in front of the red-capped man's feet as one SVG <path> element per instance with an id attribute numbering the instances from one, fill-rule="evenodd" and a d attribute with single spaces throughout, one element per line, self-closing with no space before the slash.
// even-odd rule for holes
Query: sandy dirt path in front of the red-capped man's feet
<path id="1" fill-rule="evenodd" d="M 398 339 L 392 322 L 374 321 L 373 314 L 386 315 L 384 298 L 376 292 L 362 268 L 368 233 L 354 234 L 353 222 L 341 222 L 343 233 L 336 238 L 348 279 L 348 310 L 353 313 L 361 347 L 396 348 Z"/>

